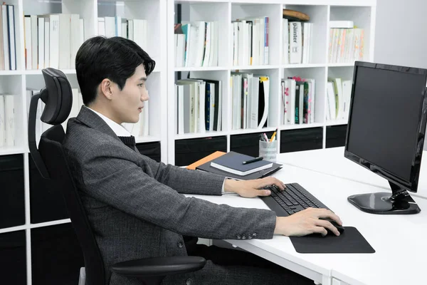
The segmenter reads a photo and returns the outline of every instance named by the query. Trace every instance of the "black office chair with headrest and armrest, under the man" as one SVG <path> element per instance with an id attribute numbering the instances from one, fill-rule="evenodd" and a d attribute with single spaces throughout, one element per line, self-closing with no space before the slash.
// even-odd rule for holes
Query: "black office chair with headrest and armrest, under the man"
<path id="1" fill-rule="evenodd" d="M 65 137 L 61 123 L 70 114 L 73 96 L 70 83 L 62 71 L 42 70 L 46 87 L 31 98 L 28 115 L 28 145 L 34 163 L 45 179 L 53 180 L 63 192 L 71 223 L 83 251 L 85 267 L 80 269 L 79 285 L 105 285 L 105 270 L 122 276 L 139 277 L 142 284 L 160 284 L 165 276 L 196 271 L 204 267 L 202 257 L 154 257 L 123 261 L 106 269 L 78 194 L 62 147 Z M 36 145 L 36 112 L 38 99 L 46 104 L 41 120 L 53 125 L 46 130 Z M 83 276 L 83 279 L 82 279 Z"/>

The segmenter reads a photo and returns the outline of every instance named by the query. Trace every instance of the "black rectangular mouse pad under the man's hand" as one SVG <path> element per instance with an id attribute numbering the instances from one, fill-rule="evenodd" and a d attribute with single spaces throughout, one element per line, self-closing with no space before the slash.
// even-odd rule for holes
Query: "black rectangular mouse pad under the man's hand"
<path id="1" fill-rule="evenodd" d="M 310 234 L 305 237 L 290 237 L 295 250 L 300 254 L 373 254 L 375 249 L 355 227 L 344 227 L 338 237 L 328 234 Z"/>

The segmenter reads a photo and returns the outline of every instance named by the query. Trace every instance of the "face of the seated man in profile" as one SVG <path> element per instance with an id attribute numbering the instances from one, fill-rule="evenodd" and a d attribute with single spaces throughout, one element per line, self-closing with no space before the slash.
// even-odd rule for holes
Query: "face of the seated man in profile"
<path id="1" fill-rule="evenodd" d="M 112 109 L 116 123 L 138 122 L 139 114 L 144 108 L 144 101 L 149 99 L 145 81 L 147 81 L 147 75 L 141 64 L 135 69 L 134 75 L 127 78 L 122 90 L 115 86 Z"/>

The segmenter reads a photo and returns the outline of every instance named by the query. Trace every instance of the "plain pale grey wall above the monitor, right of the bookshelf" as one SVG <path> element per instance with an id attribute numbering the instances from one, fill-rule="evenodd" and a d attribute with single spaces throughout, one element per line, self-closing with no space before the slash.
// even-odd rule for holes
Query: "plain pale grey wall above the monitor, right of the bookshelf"
<path id="1" fill-rule="evenodd" d="M 374 61 L 427 68 L 426 14 L 426 0 L 376 0 Z"/>

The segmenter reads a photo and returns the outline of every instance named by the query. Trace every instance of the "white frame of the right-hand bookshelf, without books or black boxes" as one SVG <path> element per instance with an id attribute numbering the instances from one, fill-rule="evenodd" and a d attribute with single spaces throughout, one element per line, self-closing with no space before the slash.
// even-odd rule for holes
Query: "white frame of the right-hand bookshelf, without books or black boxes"
<path id="1" fill-rule="evenodd" d="M 280 130 L 297 130 L 305 128 L 323 128 L 322 147 L 326 147 L 326 129 L 332 125 L 345 125 L 347 120 L 326 120 L 327 79 L 342 78 L 352 80 L 353 62 L 330 63 L 329 41 L 330 24 L 333 20 L 354 21 L 358 28 L 364 28 L 364 58 L 363 61 L 374 61 L 374 31 L 376 0 L 302 0 L 302 1 L 262 1 L 255 0 L 170 0 L 167 2 L 167 41 L 174 43 L 174 24 L 176 24 L 176 4 L 181 4 L 182 21 L 218 21 L 219 46 L 218 66 L 207 67 L 176 67 L 174 45 L 168 44 L 168 157 L 169 163 L 175 162 L 176 140 L 194 138 L 209 138 L 226 136 L 227 151 L 230 150 L 230 140 L 233 135 L 246 133 L 279 132 L 277 139 L 280 145 Z M 310 16 L 314 30 L 312 31 L 312 51 L 309 63 L 283 64 L 283 9 L 302 11 Z M 243 17 L 269 17 L 269 61 L 267 65 L 233 66 L 233 27 L 231 21 Z M 268 128 L 234 130 L 231 123 L 231 84 L 230 75 L 233 71 L 251 72 L 270 76 L 270 105 Z M 222 129 L 218 132 L 185 133 L 176 135 L 175 130 L 175 95 L 174 83 L 176 76 L 181 73 L 186 78 L 208 78 L 221 80 L 223 83 Z M 287 76 L 315 78 L 315 123 L 301 125 L 283 125 L 280 123 L 280 81 Z M 280 152 L 280 147 L 278 147 Z"/>

